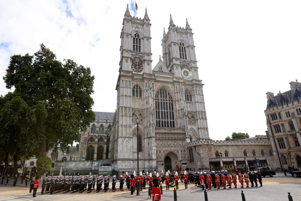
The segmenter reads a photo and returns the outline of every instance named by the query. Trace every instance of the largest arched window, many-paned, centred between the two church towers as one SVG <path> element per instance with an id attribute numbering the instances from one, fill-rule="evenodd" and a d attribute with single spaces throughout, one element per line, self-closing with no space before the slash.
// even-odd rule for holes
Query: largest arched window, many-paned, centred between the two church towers
<path id="1" fill-rule="evenodd" d="M 156 93 L 156 127 L 175 128 L 173 100 L 165 88 Z"/>

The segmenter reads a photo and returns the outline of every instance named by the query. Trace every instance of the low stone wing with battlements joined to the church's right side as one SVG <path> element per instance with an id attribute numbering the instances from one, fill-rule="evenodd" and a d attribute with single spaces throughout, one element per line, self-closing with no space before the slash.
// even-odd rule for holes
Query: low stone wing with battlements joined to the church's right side
<path id="1" fill-rule="evenodd" d="M 279 167 L 266 136 L 230 141 L 199 139 L 187 143 L 187 149 L 189 167 L 195 170 L 207 168 L 231 172 L 235 166 Z"/>

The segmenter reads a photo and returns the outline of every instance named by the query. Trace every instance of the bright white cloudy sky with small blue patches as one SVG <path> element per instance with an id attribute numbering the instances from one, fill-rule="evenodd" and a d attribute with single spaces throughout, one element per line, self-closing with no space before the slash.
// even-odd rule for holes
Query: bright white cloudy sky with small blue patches
<path id="1" fill-rule="evenodd" d="M 0 76 L 14 54 L 33 55 L 40 44 L 58 60 L 72 59 L 95 76 L 94 111 L 114 112 L 119 75 L 120 32 L 134 1 L 0 0 Z M 290 90 L 300 77 L 301 1 L 136 0 L 137 17 L 147 8 L 151 25 L 152 67 L 162 55 L 163 27 L 172 14 L 176 26 L 186 18 L 194 33 L 199 78 L 209 136 L 232 132 L 263 135 L 267 130 L 266 92 Z M 5 95 L 3 79 L 0 94 Z"/>

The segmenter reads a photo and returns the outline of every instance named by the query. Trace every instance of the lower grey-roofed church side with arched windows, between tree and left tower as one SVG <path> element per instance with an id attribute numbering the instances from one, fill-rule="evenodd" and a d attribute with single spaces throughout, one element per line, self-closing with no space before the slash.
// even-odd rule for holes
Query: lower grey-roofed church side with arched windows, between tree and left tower
<path id="1" fill-rule="evenodd" d="M 81 133 L 79 160 L 107 159 L 113 127 L 113 112 L 94 112 L 95 121 Z"/>

